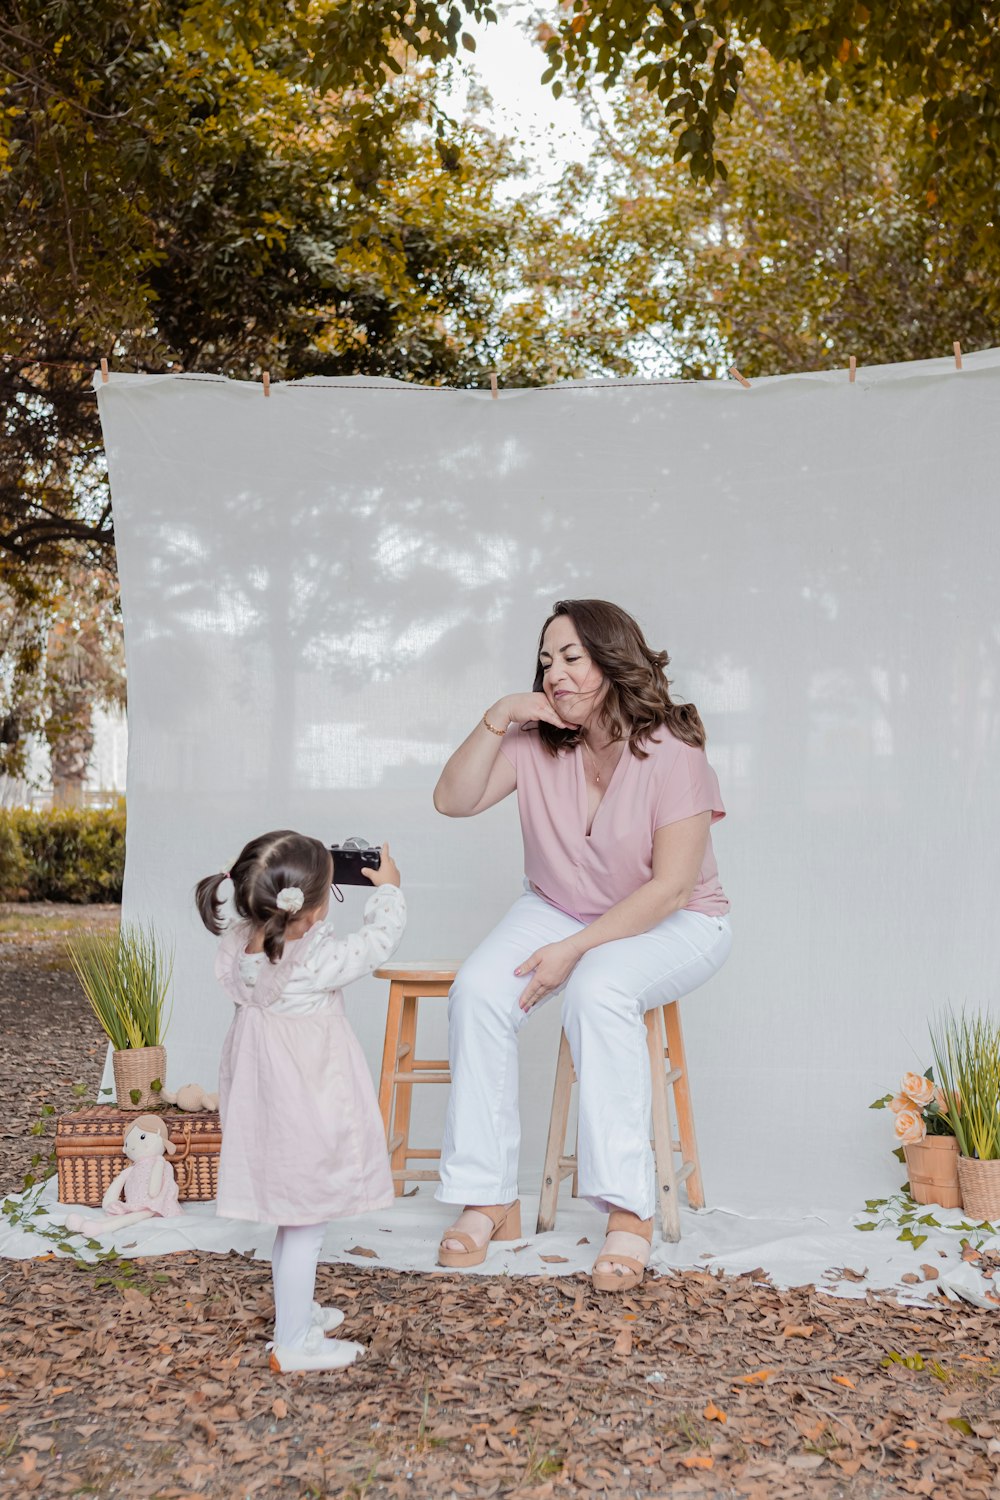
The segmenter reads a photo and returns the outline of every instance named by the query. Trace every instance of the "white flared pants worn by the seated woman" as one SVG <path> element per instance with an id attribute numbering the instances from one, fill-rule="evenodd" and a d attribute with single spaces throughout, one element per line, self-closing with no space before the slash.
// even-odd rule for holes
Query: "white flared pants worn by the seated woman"
<path id="1" fill-rule="evenodd" d="M 442 1203 L 517 1197 L 517 1032 L 534 1010 L 517 1005 L 529 976 L 514 969 L 583 926 L 525 891 L 459 969 L 448 999 Z M 567 981 L 562 1026 L 579 1078 L 579 1190 L 601 1212 L 655 1212 L 643 1017 L 711 980 L 730 946 L 727 916 L 675 912 L 636 938 L 591 948 Z"/>

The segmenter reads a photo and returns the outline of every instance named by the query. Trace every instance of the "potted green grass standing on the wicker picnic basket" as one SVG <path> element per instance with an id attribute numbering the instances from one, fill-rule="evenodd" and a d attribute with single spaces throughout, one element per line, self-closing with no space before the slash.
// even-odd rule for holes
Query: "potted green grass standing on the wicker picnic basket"
<path id="1" fill-rule="evenodd" d="M 174 969 L 153 927 L 90 928 L 66 944 L 81 988 L 108 1041 L 120 1110 L 156 1104 L 166 1077 L 166 992 Z"/>

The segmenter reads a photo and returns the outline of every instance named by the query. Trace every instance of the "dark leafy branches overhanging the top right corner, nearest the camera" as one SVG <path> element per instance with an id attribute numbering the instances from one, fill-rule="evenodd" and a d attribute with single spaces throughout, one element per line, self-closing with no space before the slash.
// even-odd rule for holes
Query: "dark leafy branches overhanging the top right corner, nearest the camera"
<path id="1" fill-rule="evenodd" d="M 709 182 L 751 42 L 822 80 L 829 100 L 916 104 L 928 171 L 988 192 L 985 165 L 996 192 L 1000 27 L 984 0 L 567 0 L 543 38 L 550 78 L 631 72 L 678 129 L 678 160 Z"/>

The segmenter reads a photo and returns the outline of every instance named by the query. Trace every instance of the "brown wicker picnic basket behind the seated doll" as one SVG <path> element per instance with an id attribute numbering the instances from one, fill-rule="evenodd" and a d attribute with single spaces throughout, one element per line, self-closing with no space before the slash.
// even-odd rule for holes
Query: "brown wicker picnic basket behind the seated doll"
<path id="1" fill-rule="evenodd" d="M 175 1155 L 165 1156 L 177 1178 L 178 1197 L 208 1203 L 219 1185 L 222 1124 L 217 1110 L 157 1110 Z M 100 1208 L 111 1182 L 129 1166 L 121 1150 L 124 1131 L 135 1124 L 132 1112 L 97 1104 L 76 1114 L 61 1114 L 55 1125 L 58 1202 Z"/>

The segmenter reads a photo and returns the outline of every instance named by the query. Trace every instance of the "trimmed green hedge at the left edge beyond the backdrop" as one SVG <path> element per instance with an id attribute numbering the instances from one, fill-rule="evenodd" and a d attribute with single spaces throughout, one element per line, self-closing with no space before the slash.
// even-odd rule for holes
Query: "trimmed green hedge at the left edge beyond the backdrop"
<path id="1" fill-rule="evenodd" d="M 124 802 L 0 810 L 0 900 L 120 902 Z"/>

